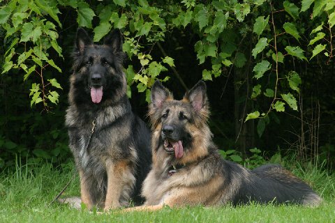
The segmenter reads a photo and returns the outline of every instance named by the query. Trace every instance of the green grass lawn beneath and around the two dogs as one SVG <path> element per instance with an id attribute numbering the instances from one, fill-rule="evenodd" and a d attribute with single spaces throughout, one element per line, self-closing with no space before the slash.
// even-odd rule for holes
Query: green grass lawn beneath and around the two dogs
<path id="1" fill-rule="evenodd" d="M 72 164 L 63 167 L 62 172 L 49 164 L 18 165 L 15 171 L 0 176 L 0 222 L 335 222 L 334 176 L 311 165 L 295 166 L 290 169 L 321 194 L 321 206 L 166 207 L 154 213 L 97 214 L 59 203 L 50 205 L 71 178 Z M 73 195 L 79 195 L 77 179 L 64 193 L 66 197 Z"/>

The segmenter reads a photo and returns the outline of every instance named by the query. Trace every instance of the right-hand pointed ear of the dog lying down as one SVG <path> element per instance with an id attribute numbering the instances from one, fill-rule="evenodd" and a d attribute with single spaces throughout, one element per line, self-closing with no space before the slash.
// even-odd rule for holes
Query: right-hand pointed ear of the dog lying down
<path id="1" fill-rule="evenodd" d="M 184 98 L 191 102 L 193 109 L 195 109 L 196 112 L 199 112 L 207 105 L 206 84 L 200 80 L 184 95 Z"/>

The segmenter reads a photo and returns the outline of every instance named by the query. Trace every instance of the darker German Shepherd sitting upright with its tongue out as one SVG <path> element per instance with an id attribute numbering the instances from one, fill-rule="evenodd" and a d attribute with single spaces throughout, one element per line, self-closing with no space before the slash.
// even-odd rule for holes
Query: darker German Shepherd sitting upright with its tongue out
<path id="1" fill-rule="evenodd" d="M 140 202 L 151 166 L 150 131 L 133 114 L 126 95 L 122 43 L 119 29 L 103 45 L 77 29 L 66 126 L 87 208 Z"/>

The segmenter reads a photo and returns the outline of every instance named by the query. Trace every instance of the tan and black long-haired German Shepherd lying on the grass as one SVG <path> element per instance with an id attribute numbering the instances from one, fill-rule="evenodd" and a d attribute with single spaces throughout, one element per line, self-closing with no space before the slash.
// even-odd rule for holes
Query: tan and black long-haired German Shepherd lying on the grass
<path id="1" fill-rule="evenodd" d="M 207 125 L 209 103 L 200 81 L 182 100 L 155 82 L 149 106 L 152 169 L 144 180 L 144 206 L 126 210 L 156 210 L 162 206 L 233 206 L 256 203 L 316 205 L 321 199 L 311 187 L 278 164 L 252 171 L 223 160 Z"/>

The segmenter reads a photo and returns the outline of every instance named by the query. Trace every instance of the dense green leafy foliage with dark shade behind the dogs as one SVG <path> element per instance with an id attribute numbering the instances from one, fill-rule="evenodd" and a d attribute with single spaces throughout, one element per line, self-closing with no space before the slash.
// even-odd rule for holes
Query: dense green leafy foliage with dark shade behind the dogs
<path id="1" fill-rule="evenodd" d="M 334 1 L 0 3 L 0 167 L 17 153 L 70 159 L 63 123 L 78 26 L 96 42 L 123 31 L 128 95 L 141 116 L 156 79 L 178 97 L 204 79 L 228 158 L 278 146 L 334 162 Z"/>

